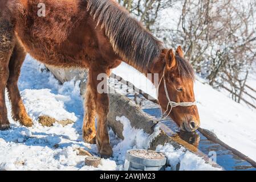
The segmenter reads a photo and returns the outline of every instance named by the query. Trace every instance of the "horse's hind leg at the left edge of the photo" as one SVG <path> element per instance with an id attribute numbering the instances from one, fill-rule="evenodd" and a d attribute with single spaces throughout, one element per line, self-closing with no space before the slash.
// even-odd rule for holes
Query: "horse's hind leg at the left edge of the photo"
<path id="1" fill-rule="evenodd" d="M 9 60 L 14 47 L 13 26 L 0 19 L 0 130 L 9 129 L 5 104 L 5 88 L 9 78 Z"/>

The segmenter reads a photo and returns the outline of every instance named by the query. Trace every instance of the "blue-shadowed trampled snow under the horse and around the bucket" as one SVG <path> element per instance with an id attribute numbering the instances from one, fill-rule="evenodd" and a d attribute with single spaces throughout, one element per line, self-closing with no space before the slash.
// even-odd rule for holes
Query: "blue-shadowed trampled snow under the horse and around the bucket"
<path id="1" fill-rule="evenodd" d="M 121 69 L 122 67 L 116 70 Z M 0 171 L 121 170 L 125 152 L 131 148 L 147 148 L 159 132 L 156 129 L 155 133 L 149 136 L 143 130 L 132 129 L 128 119 L 120 116 L 117 120 L 124 124 L 125 139 L 118 139 L 113 131 L 109 130 L 113 158 L 103 159 L 98 168 L 88 167 L 84 165 L 85 157 L 77 155 L 76 150 L 82 147 L 94 155 L 98 155 L 98 152 L 95 144 L 84 143 L 82 139 L 83 102 L 79 93 L 79 82 L 70 81 L 60 85 L 43 65 L 27 56 L 19 79 L 19 89 L 34 125 L 27 128 L 14 122 L 6 97 L 11 129 L 0 131 Z M 43 127 L 37 121 L 40 115 L 72 119 L 75 123 L 65 127 L 58 123 L 53 127 Z M 191 152 L 184 152 L 184 148 L 174 150 L 172 146 L 166 145 L 157 147 L 157 150 L 164 152 L 168 157 L 169 170 L 176 169 L 177 163 L 181 164 L 181 170 L 217 170 Z"/>

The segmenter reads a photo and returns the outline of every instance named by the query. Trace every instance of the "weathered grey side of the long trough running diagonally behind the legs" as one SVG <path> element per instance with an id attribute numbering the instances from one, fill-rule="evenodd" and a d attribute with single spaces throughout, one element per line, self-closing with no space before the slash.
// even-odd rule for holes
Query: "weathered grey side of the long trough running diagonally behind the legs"
<path id="1" fill-rule="evenodd" d="M 72 70 L 72 69 L 55 69 L 47 65 L 47 68 L 54 74 L 54 76 L 62 83 L 75 79 L 80 81 L 80 92 L 83 95 L 86 90 L 86 70 Z M 150 150 L 156 150 L 159 145 L 164 145 L 166 143 L 171 144 L 174 148 L 181 148 L 182 146 L 193 152 L 194 154 L 200 156 L 205 160 L 206 163 L 213 167 L 222 168 L 218 164 L 212 162 L 197 147 L 193 146 L 182 140 L 180 137 L 175 135 L 174 131 L 170 130 L 167 126 L 162 123 L 157 123 L 155 118 L 150 117 L 145 114 L 141 108 L 135 104 L 129 98 L 123 96 L 119 93 L 109 94 L 109 114 L 108 114 L 108 125 L 121 139 L 123 137 L 123 124 L 117 121 L 117 117 L 125 116 L 129 119 L 131 126 L 135 129 L 143 129 L 143 131 L 151 135 L 155 131 L 155 127 L 160 127 L 160 133 L 154 137 L 150 144 Z"/>

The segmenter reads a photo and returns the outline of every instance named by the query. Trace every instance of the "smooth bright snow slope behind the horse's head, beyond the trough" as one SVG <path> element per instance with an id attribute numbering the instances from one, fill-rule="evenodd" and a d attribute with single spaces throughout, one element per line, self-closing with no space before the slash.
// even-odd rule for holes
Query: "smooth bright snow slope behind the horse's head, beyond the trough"
<path id="1" fill-rule="evenodd" d="M 113 73 L 156 98 L 156 89 L 151 82 L 129 65 L 121 64 Z M 198 80 L 201 79 L 198 77 Z M 202 82 L 204 80 L 196 81 L 194 86 L 201 127 L 212 131 L 229 146 L 256 160 L 256 111 L 234 102 Z"/>

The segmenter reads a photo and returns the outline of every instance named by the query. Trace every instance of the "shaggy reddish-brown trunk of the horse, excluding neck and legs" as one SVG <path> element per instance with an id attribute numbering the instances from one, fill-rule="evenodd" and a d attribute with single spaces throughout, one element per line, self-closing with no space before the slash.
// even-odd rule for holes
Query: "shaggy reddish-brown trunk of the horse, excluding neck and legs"
<path id="1" fill-rule="evenodd" d="M 20 0 L 15 31 L 26 51 L 43 63 L 59 67 L 88 67 L 96 61 L 99 34 L 84 2 L 41 2 Z"/>

